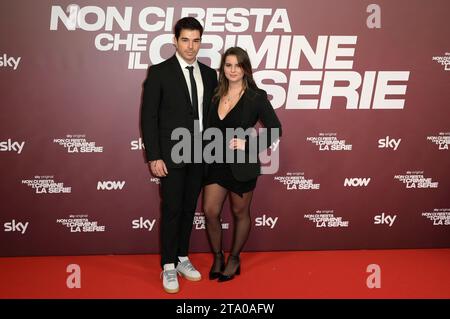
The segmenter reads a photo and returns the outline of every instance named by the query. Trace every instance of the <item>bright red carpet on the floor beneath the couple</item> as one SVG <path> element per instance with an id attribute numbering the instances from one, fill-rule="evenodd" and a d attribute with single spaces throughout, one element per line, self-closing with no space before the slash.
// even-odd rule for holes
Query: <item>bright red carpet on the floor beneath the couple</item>
<path id="1" fill-rule="evenodd" d="M 241 255 L 241 275 L 207 279 L 209 254 L 192 254 L 204 278 L 180 278 L 180 292 L 162 289 L 159 255 L 0 258 L 0 298 L 450 298 L 450 249 L 258 252 Z M 67 266 L 81 269 L 69 289 Z M 380 288 L 366 280 L 380 266 Z"/>

